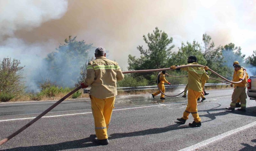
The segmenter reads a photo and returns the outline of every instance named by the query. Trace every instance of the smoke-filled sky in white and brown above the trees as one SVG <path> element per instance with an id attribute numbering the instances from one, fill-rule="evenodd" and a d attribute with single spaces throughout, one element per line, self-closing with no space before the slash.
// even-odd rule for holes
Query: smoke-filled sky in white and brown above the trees
<path id="1" fill-rule="evenodd" d="M 0 59 L 21 60 L 29 75 L 72 35 L 104 47 L 127 70 L 128 55 L 140 56 L 142 36 L 155 27 L 173 38 L 172 51 L 207 33 L 248 57 L 256 50 L 255 14 L 256 0 L 0 0 Z"/>

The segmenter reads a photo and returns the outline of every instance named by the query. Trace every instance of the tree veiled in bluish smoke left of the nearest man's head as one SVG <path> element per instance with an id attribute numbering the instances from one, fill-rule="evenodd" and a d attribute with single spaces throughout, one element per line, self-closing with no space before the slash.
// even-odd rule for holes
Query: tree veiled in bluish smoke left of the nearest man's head
<path id="1" fill-rule="evenodd" d="M 80 67 L 85 63 L 92 48 L 92 44 L 86 44 L 84 40 L 77 41 L 76 37 L 69 36 L 56 51 L 47 55 L 47 71 L 41 72 L 40 77 L 50 76 L 48 79 L 56 81 L 60 86 L 73 87 L 79 77 Z"/>

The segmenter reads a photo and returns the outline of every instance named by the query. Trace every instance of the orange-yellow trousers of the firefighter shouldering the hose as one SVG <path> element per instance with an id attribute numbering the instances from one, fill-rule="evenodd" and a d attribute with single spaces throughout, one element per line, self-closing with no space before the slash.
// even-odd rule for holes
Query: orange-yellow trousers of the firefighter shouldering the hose
<path id="1" fill-rule="evenodd" d="M 188 119 L 188 115 L 191 113 L 192 116 L 194 117 L 194 121 L 195 122 L 200 122 L 201 119 L 198 115 L 198 112 L 197 112 L 197 98 L 200 97 L 202 92 L 197 92 L 197 91 L 194 91 L 192 89 L 188 89 L 188 105 L 187 105 L 187 108 L 185 110 L 185 112 L 183 113 L 183 119 Z"/>

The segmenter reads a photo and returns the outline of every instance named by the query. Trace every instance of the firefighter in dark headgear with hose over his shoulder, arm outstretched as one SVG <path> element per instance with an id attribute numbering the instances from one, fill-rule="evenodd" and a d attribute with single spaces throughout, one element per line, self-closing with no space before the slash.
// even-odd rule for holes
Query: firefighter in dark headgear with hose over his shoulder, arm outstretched
<path id="1" fill-rule="evenodd" d="M 188 65 L 198 64 L 196 56 L 188 57 Z M 209 69 L 205 66 L 205 70 Z M 173 65 L 170 67 L 172 70 L 176 69 L 176 66 Z M 201 126 L 201 119 L 197 112 L 197 98 L 202 93 L 202 80 L 209 80 L 205 70 L 202 67 L 184 67 L 181 70 L 188 71 L 188 105 L 183 113 L 183 117 L 177 118 L 181 123 L 185 123 L 188 119 L 189 114 L 191 113 L 194 117 L 194 121 L 189 123 L 191 127 L 199 127 Z"/>

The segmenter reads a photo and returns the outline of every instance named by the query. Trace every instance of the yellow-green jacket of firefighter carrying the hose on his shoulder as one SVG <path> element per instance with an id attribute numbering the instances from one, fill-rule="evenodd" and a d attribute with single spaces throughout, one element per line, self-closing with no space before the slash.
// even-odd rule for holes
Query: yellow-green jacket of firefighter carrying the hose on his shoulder
<path id="1" fill-rule="evenodd" d="M 198 64 L 197 62 L 189 63 L 187 65 Z M 181 65 L 183 66 L 183 65 Z M 188 71 L 188 88 L 202 92 L 202 81 L 206 82 L 209 80 L 209 76 L 206 74 L 203 67 L 184 67 L 181 70 Z"/>

